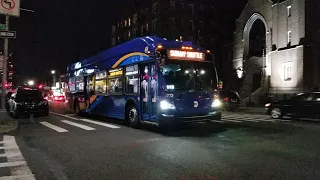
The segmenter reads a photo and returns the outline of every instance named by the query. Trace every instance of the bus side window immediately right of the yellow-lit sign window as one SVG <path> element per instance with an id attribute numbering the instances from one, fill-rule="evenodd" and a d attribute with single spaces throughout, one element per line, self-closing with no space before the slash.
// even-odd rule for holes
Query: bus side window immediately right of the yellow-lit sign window
<path id="1" fill-rule="evenodd" d="M 138 65 L 126 67 L 126 93 L 139 93 Z"/>

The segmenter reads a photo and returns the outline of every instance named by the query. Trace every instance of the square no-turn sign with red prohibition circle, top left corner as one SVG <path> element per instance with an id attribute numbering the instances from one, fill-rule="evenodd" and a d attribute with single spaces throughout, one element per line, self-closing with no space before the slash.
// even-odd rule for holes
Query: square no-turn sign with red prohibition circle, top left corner
<path id="1" fill-rule="evenodd" d="M 0 0 L 0 14 L 20 16 L 20 0 Z"/>

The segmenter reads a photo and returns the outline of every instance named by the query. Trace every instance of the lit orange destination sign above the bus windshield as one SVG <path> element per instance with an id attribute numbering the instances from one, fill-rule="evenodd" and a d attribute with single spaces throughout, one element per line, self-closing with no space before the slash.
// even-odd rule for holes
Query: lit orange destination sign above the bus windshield
<path id="1" fill-rule="evenodd" d="M 196 51 L 168 50 L 169 59 L 204 61 L 205 54 Z"/>

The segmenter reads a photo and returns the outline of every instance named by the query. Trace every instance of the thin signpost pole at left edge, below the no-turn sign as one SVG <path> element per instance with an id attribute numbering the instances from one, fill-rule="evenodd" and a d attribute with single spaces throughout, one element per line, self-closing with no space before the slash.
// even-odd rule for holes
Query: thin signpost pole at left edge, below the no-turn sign
<path id="1" fill-rule="evenodd" d="M 6 23 L 5 30 L 9 31 L 9 16 L 6 15 Z M 1 107 L 3 110 L 6 109 L 6 84 L 7 84 L 7 76 L 8 76 L 8 48 L 9 48 L 9 40 L 8 38 L 4 38 L 3 45 L 3 75 L 2 75 L 2 99 L 1 99 Z"/>

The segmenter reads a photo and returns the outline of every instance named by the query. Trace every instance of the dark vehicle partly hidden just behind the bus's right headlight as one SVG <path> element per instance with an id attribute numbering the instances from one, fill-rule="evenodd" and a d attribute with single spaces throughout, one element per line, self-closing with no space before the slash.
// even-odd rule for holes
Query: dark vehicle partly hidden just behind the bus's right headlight
<path id="1" fill-rule="evenodd" d="M 235 91 L 220 91 L 219 98 L 223 108 L 229 111 L 238 109 L 241 104 L 240 96 Z"/>

